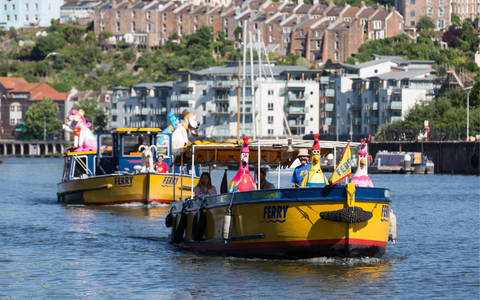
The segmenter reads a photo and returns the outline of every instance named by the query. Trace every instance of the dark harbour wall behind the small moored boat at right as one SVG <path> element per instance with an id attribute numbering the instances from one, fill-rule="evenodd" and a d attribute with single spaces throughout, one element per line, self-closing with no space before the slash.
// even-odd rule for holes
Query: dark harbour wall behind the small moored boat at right
<path id="1" fill-rule="evenodd" d="M 436 174 L 480 175 L 479 142 L 371 142 L 373 158 L 379 151 L 423 152 L 435 164 Z"/>

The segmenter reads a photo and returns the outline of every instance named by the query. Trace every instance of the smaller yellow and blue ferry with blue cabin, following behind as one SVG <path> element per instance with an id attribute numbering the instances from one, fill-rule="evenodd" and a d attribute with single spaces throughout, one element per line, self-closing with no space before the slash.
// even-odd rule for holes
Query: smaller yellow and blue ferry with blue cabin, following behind
<path id="1" fill-rule="evenodd" d="M 158 128 L 119 128 L 97 136 L 97 151 L 69 152 L 65 155 L 57 199 L 66 204 L 110 205 L 125 203 L 169 203 L 190 197 L 191 183 L 198 182 L 198 168 L 175 168 L 176 172 L 142 172 L 139 137 L 153 147 L 153 157 L 164 155 L 172 162 L 170 133 Z M 155 159 L 153 161 L 155 163 Z M 192 175 L 185 175 L 192 174 Z"/>

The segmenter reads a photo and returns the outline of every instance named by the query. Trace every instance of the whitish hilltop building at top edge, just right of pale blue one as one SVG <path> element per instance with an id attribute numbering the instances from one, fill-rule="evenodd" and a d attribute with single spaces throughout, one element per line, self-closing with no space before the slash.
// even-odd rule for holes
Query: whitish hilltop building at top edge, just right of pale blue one
<path id="1" fill-rule="evenodd" d="M 78 22 L 80 25 L 87 25 L 93 20 L 95 8 L 100 4 L 101 0 L 66 1 L 60 7 L 60 23 Z"/>

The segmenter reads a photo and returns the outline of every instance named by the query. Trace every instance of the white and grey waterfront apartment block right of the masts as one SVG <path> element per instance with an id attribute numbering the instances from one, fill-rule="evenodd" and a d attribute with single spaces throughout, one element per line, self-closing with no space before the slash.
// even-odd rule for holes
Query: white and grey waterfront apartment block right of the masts
<path id="1" fill-rule="evenodd" d="M 321 122 L 324 132 L 375 134 L 383 124 L 402 120 L 417 101 L 431 100 L 440 89 L 434 61 L 408 61 L 399 56 L 373 55 L 374 60 L 356 65 L 338 63 L 334 93 L 336 119 Z"/>

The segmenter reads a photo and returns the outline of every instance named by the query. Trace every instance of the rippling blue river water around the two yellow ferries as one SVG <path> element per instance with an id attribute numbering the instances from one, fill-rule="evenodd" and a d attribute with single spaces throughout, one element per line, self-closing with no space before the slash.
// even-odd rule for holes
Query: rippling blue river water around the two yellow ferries
<path id="1" fill-rule="evenodd" d="M 59 158 L 0 164 L 0 298 L 480 297 L 476 176 L 372 174 L 391 190 L 396 245 L 381 259 L 288 261 L 180 249 L 167 239 L 166 205 L 58 204 L 62 167 Z M 223 171 L 212 175 L 219 189 Z M 276 173 L 267 179 L 277 185 Z"/>

